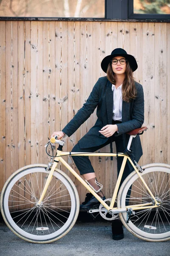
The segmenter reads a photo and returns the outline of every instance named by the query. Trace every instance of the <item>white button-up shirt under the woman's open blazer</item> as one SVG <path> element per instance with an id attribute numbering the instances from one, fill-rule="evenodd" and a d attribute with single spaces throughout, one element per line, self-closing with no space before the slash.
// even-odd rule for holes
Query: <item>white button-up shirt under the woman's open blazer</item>
<path id="1" fill-rule="evenodd" d="M 115 121 L 122 121 L 122 84 L 116 89 L 112 84 L 113 91 L 113 117 Z"/>

